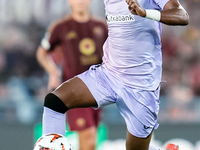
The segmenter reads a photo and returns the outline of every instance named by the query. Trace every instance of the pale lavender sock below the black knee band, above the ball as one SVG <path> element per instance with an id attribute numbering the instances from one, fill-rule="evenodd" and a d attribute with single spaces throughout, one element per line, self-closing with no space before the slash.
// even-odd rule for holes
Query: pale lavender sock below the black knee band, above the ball
<path id="1" fill-rule="evenodd" d="M 44 107 L 42 134 L 59 133 L 65 136 L 65 114 Z"/>

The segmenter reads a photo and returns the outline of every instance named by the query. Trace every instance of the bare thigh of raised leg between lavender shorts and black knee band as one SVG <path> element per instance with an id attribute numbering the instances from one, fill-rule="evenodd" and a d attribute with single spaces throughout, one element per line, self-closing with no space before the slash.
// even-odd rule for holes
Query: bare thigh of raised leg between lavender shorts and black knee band
<path id="1" fill-rule="evenodd" d="M 53 93 L 58 96 L 69 109 L 97 106 L 91 92 L 78 77 L 64 82 Z"/>

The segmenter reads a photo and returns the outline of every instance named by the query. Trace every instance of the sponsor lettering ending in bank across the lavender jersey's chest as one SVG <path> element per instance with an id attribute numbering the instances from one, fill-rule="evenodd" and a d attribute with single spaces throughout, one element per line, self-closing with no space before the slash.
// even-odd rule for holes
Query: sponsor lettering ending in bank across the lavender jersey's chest
<path id="1" fill-rule="evenodd" d="M 128 15 L 110 15 L 106 13 L 106 20 L 108 23 L 112 22 L 132 22 L 135 21 L 134 15 L 129 13 Z"/>

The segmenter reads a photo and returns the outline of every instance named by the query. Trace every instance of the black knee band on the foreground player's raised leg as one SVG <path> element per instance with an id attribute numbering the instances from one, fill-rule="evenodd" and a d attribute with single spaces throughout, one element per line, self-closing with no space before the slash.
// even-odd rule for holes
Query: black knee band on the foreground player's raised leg
<path id="1" fill-rule="evenodd" d="M 63 101 L 53 93 L 46 95 L 44 106 L 59 113 L 65 113 L 68 110 Z"/>

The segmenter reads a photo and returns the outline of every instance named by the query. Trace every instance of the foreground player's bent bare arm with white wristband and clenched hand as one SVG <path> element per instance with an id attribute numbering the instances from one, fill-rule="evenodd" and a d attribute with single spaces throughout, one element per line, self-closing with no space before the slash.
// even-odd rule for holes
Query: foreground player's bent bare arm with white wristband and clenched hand
<path id="1" fill-rule="evenodd" d="M 137 0 L 126 0 L 135 15 L 160 21 L 167 25 L 187 25 L 189 15 L 177 0 L 169 0 L 162 11 L 144 9 Z"/>

